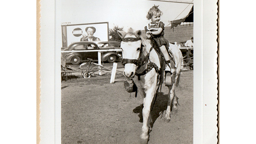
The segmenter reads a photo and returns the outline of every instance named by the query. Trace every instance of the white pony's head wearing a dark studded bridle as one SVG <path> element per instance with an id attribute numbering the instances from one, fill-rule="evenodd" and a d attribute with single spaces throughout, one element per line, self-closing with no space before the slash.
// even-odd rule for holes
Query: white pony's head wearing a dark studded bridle
<path id="1" fill-rule="evenodd" d="M 122 38 L 121 49 L 123 53 L 123 65 L 125 70 L 123 71 L 124 76 L 133 78 L 135 71 L 138 67 L 139 57 L 142 55 L 142 40 L 141 31 L 133 31 L 128 29 L 128 32 L 117 31 L 119 36 Z"/>

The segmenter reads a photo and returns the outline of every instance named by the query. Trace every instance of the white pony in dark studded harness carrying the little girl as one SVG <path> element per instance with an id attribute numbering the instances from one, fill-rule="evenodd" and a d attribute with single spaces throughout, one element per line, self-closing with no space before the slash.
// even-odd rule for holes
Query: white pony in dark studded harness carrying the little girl
<path id="1" fill-rule="evenodd" d="M 160 57 L 155 49 L 152 48 L 151 42 L 141 36 L 141 31 L 128 32 L 117 31 L 122 38 L 121 49 L 123 50 L 123 71 L 124 76 L 128 81 L 133 81 L 143 98 L 143 126 L 141 134 L 141 143 L 147 144 L 149 133 L 151 131 L 150 107 L 159 85 L 161 84 L 161 63 Z M 172 86 L 168 86 L 168 106 L 166 109 L 165 118 L 170 120 L 171 106 L 172 110 L 177 111 L 177 97 L 174 93 L 174 87 L 178 85 L 180 79 L 180 68 L 182 54 L 177 45 L 171 45 L 176 68 L 172 68 Z M 162 66 L 164 67 L 164 65 Z M 164 68 L 163 68 L 164 69 Z M 175 81 L 174 81 L 175 79 Z"/>

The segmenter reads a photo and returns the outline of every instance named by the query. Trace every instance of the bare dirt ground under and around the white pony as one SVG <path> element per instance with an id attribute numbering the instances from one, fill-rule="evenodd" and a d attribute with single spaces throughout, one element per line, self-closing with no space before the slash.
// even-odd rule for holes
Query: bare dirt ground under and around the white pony
<path id="1" fill-rule="evenodd" d="M 62 81 L 62 144 L 139 144 L 143 101 L 125 92 L 124 76 L 110 75 Z M 160 91 L 159 91 L 160 92 Z M 148 144 L 193 144 L 193 71 L 182 71 L 175 88 L 178 112 L 165 121 L 168 88 L 158 93 L 151 111 Z"/>

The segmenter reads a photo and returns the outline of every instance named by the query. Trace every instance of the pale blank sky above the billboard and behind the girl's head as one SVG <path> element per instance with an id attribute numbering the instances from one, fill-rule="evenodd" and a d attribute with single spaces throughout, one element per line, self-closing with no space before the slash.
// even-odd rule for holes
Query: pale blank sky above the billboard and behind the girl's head
<path id="1" fill-rule="evenodd" d="M 192 0 L 179 1 L 191 2 Z M 193 6 L 193 4 L 187 3 L 153 0 L 56 0 L 56 47 L 62 47 L 62 23 L 109 22 L 109 29 L 118 26 L 123 27 L 124 30 L 130 27 L 135 30 L 143 30 L 144 26 L 150 22 L 146 15 L 153 5 L 159 5 L 158 8 L 163 12 L 161 21 L 165 26 L 169 24 L 169 21 L 187 16 Z"/>

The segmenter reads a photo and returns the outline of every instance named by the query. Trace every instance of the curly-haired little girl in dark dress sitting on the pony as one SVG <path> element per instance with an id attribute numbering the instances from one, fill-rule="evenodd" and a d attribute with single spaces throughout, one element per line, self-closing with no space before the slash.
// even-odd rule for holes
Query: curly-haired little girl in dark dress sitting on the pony
<path id="1" fill-rule="evenodd" d="M 159 5 L 158 5 L 159 6 Z M 163 12 L 158 9 L 158 6 L 154 5 L 147 13 L 147 19 L 151 20 L 151 23 L 149 23 L 147 26 L 145 26 L 146 36 L 147 38 L 152 37 L 158 47 L 160 48 L 161 52 L 163 53 L 164 59 L 166 60 L 166 82 L 171 83 L 171 63 L 169 54 L 166 50 L 166 47 L 169 47 L 169 42 L 167 39 L 163 38 L 163 30 L 164 30 L 164 24 L 160 21 L 161 15 Z"/>

